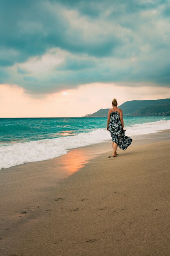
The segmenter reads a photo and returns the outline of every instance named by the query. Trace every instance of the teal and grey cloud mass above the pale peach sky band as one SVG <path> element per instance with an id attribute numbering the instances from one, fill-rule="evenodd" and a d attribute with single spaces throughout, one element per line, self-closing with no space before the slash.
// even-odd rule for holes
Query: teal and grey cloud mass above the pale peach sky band
<path id="1" fill-rule="evenodd" d="M 48 94 L 86 83 L 169 86 L 166 0 L 1 0 L 0 83 Z"/>

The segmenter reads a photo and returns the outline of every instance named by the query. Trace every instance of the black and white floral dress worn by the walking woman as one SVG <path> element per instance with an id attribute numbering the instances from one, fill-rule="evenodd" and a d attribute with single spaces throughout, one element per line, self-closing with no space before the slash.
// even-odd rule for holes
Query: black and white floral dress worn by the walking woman
<path id="1" fill-rule="evenodd" d="M 132 139 L 125 135 L 125 131 L 121 126 L 118 111 L 111 112 L 108 130 L 112 136 L 112 141 L 114 141 L 119 146 L 119 148 L 126 150 L 126 148 L 131 144 Z"/>

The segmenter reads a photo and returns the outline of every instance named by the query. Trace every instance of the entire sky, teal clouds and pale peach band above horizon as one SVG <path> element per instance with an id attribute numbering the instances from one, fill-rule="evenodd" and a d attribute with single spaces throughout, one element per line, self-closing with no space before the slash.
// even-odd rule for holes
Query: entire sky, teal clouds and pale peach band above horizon
<path id="1" fill-rule="evenodd" d="M 0 117 L 170 98 L 168 0 L 0 0 Z"/>

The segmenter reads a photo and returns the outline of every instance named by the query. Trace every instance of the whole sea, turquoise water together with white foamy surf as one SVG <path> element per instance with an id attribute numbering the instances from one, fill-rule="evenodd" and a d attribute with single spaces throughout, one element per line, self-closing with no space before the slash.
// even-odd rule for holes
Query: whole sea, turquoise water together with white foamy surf
<path id="1" fill-rule="evenodd" d="M 0 118 L 0 169 L 111 141 L 106 124 L 106 117 Z M 133 138 L 170 129 L 170 117 L 124 116 L 124 126 Z"/>

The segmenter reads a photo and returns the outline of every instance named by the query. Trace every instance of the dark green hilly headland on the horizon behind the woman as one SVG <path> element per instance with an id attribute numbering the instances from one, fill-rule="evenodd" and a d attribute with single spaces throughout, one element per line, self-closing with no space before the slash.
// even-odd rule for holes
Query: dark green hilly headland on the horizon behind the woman
<path id="1" fill-rule="evenodd" d="M 126 101 L 119 106 L 123 114 L 134 117 L 170 116 L 170 99 Z M 107 117 L 109 108 L 101 108 L 84 117 Z"/>

